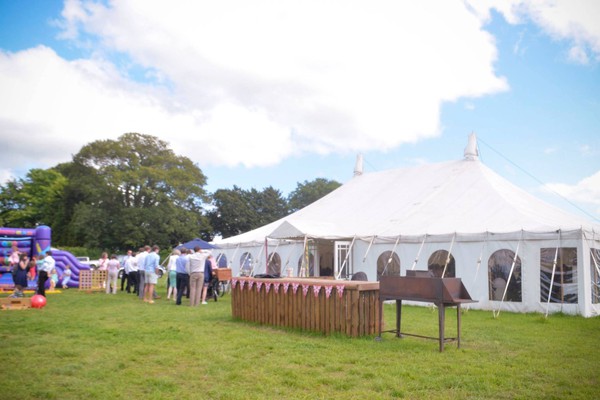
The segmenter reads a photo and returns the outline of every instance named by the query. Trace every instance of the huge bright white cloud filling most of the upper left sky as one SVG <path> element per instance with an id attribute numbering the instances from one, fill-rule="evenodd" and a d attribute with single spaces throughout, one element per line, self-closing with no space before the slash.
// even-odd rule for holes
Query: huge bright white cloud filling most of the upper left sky
<path id="1" fill-rule="evenodd" d="M 0 54 L 0 121 L 54 143 L 44 166 L 132 131 L 200 166 L 389 150 L 438 135 L 441 103 L 508 89 L 481 24 L 462 1 L 69 0 L 63 37 L 92 56 Z"/>

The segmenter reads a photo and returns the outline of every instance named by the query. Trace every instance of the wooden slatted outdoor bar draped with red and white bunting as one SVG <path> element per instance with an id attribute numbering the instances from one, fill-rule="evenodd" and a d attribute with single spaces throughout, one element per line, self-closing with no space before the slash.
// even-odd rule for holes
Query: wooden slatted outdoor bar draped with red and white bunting
<path id="1" fill-rule="evenodd" d="M 237 277 L 231 296 L 233 317 L 244 321 L 352 337 L 379 330 L 378 282 Z"/>

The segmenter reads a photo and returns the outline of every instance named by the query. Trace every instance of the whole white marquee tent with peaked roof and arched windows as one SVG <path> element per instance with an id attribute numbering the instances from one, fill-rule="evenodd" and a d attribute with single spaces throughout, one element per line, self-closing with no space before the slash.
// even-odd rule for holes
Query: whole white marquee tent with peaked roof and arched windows
<path id="1" fill-rule="evenodd" d="M 600 313 L 600 224 L 553 207 L 483 165 L 459 161 L 362 173 L 278 221 L 224 239 L 234 274 L 377 280 L 429 269 L 456 276 L 494 311 Z"/>

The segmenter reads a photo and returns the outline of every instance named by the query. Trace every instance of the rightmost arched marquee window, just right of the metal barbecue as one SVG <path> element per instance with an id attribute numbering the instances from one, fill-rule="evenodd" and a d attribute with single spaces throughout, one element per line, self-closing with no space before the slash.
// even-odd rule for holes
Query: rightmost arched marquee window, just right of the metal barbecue
<path id="1" fill-rule="evenodd" d="M 512 250 L 502 249 L 494 252 L 488 260 L 488 286 L 490 300 L 501 301 L 506 290 L 504 301 L 522 301 L 521 296 L 521 258 L 517 257 L 510 282 L 510 268 L 515 253 Z M 506 287 L 508 283 L 508 288 Z"/>

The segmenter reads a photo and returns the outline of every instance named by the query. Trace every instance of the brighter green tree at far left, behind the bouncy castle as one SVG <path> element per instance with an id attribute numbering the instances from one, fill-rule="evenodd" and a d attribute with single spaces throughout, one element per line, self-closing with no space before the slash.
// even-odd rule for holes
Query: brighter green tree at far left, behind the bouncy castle
<path id="1" fill-rule="evenodd" d="M 0 222 L 12 227 L 54 225 L 61 220 L 67 179 L 58 171 L 31 169 L 0 186 Z"/>

